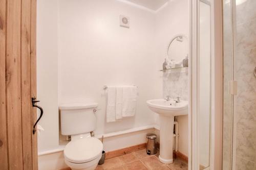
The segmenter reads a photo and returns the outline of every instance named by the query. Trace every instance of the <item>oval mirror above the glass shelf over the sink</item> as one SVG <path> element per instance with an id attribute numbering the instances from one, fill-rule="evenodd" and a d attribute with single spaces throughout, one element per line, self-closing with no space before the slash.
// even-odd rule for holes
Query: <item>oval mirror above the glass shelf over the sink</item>
<path id="1" fill-rule="evenodd" d="M 169 43 L 167 48 L 168 60 L 175 67 L 181 67 L 182 61 L 188 56 L 188 40 L 184 35 L 175 36 Z"/>

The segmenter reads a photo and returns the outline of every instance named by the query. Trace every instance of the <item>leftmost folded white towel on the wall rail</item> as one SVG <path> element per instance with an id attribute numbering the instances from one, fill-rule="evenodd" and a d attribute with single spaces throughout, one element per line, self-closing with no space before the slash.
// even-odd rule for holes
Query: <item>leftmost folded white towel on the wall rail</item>
<path id="1" fill-rule="evenodd" d="M 106 106 L 106 122 L 116 121 L 116 87 L 108 86 L 108 104 Z"/>

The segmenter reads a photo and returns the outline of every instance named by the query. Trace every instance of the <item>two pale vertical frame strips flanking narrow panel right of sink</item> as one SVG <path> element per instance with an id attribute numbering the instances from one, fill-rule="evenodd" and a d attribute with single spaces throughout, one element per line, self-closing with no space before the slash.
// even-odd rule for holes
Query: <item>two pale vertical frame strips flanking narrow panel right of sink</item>
<path id="1" fill-rule="evenodd" d="M 200 169 L 199 163 L 199 4 L 189 1 L 190 10 L 190 60 L 189 60 L 189 156 L 188 169 Z M 223 53 L 222 53 L 222 2 L 210 1 L 211 17 L 211 114 L 209 167 L 222 169 L 222 115 L 223 115 Z"/>

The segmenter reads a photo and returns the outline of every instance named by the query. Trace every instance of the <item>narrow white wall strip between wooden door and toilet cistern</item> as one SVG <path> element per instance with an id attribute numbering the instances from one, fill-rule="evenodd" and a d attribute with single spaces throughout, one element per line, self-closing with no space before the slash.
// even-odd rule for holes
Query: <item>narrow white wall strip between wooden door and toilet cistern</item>
<path id="1" fill-rule="evenodd" d="M 58 147 L 57 1 L 37 1 L 37 100 L 44 109 L 38 152 Z"/>

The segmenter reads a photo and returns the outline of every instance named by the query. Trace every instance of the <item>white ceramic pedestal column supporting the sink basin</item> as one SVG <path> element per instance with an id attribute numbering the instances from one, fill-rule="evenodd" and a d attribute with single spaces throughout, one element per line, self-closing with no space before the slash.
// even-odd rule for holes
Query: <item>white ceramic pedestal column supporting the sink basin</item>
<path id="1" fill-rule="evenodd" d="M 174 116 L 160 116 L 160 155 L 159 160 L 162 163 L 173 163 L 173 130 Z"/>

